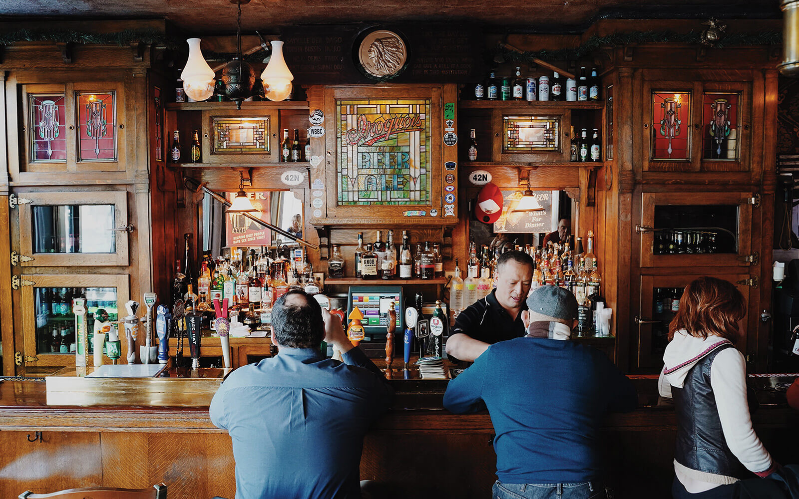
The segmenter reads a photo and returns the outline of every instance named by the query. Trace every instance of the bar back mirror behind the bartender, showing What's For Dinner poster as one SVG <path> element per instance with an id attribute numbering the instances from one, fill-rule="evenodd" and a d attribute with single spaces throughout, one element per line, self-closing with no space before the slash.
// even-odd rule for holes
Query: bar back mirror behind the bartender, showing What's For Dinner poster
<path id="1" fill-rule="evenodd" d="M 469 237 L 475 242 L 478 256 L 486 246 L 489 251 L 503 248 L 514 249 L 527 245 L 540 246 L 551 232 L 557 232 L 559 222 L 566 219 L 566 232 L 575 233 L 577 204 L 566 191 L 533 190 L 532 197 L 523 199 L 519 189 L 501 188 L 503 211 L 494 223 L 486 224 L 475 216 L 474 204 L 477 190 L 472 196 L 471 216 L 469 217 Z M 574 237 L 572 237 L 574 244 Z"/>

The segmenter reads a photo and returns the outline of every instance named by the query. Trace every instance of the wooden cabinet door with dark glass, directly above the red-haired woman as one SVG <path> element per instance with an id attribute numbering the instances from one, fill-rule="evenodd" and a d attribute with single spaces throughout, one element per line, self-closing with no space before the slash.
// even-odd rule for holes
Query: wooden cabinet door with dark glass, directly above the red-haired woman
<path id="1" fill-rule="evenodd" d="M 752 192 L 644 192 L 641 267 L 747 266 Z"/>

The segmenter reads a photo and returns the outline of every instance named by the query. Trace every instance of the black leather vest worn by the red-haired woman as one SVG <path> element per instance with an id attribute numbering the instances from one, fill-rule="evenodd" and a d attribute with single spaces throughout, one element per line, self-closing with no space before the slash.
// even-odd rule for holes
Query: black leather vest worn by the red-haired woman
<path id="1" fill-rule="evenodd" d="M 733 345 L 722 345 L 701 358 L 688 371 L 682 388 L 671 388 L 677 412 L 674 458 L 690 469 L 741 478 L 746 469 L 727 446 L 710 386 L 710 365 L 718 352 L 727 348 Z"/>

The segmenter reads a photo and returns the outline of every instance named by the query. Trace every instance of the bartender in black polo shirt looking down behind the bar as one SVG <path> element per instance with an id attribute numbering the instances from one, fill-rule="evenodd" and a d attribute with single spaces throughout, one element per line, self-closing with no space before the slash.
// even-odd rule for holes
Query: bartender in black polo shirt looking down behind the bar
<path id="1" fill-rule="evenodd" d="M 506 251 L 497 260 L 495 289 L 462 311 L 447 340 L 447 355 L 474 362 L 489 345 L 525 335 L 521 312 L 533 280 L 533 259 L 523 251 Z"/>

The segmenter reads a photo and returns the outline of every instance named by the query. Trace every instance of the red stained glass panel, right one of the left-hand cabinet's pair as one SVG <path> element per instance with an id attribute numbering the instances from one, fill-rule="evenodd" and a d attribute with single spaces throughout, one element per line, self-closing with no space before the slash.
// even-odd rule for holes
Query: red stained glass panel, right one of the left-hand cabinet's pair
<path id="1" fill-rule="evenodd" d="M 78 161 L 117 160 L 116 97 L 116 92 L 78 93 Z"/>

